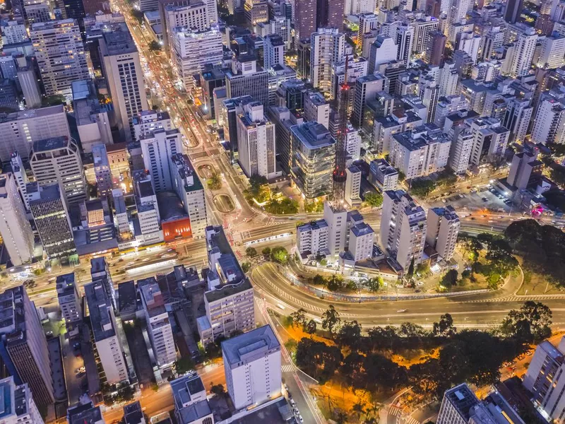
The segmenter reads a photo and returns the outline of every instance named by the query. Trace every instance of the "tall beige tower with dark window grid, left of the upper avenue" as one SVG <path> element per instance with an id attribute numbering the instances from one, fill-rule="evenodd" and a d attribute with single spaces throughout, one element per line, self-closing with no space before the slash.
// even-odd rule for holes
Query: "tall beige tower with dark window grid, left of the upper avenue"
<path id="1" fill-rule="evenodd" d="M 113 24 L 111 30 L 102 33 L 100 55 L 120 135 L 131 141 L 131 120 L 149 106 L 139 52 L 125 23 Z"/>

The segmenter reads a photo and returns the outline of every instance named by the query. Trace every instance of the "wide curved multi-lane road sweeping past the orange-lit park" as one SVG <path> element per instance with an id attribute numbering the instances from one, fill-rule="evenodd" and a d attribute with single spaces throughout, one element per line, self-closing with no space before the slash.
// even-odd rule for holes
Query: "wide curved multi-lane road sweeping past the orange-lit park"
<path id="1" fill-rule="evenodd" d="M 518 309 L 525 300 L 540 300 L 553 311 L 554 326 L 565 326 L 565 295 L 517 296 L 517 285 L 507 283 L 489 293 L 458 295 L 426 300 L 391 300 L 378 302 L 340 302 L 311 295 L 292 285 L 275 264 L 261 264 L 251 271 L 256 291 L 273 305 L 292 310 L 303 308 L 311 317 L 319 318 L 329 305 L 334 305 L 343 319 L 357 319 L 365 327 L 413 322 L 432 325 L 441 314 L 453 316 L 458 326 L 489 327 L 499 324 L 511 309 Z M 405 310 L 405 312 L 399 312 Z"/>

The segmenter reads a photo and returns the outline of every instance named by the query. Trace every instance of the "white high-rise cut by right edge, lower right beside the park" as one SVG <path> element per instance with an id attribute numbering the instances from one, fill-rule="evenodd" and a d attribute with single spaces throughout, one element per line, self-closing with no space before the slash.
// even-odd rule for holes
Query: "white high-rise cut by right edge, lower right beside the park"
<path id="1" fill-rule="evenodd" d="M 565 337 L 559 347 L 542 341 L 526 371 L 523 384 L 533 394 L 533 402 L 547 420 L 563 424 L 565 417 Z"/>

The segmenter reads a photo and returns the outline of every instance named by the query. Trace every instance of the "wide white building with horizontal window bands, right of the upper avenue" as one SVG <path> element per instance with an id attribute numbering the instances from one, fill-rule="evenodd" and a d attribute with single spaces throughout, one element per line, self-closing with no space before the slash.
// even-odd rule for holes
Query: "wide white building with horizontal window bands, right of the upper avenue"
<path id="1" fill-rule="evenodd" d="M 192 90 L 196 73 L 208 64 L 219 65 L 223 57 L 222 33 L 217 26 L 204 30 L 174 28 L 172 61 L 175 74 L 186 91 Z"/>

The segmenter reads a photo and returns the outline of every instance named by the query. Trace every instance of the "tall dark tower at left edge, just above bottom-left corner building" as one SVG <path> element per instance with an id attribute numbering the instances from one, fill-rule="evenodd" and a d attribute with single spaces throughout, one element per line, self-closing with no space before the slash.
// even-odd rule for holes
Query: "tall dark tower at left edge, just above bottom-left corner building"
<path id="1" fill-rule="evenodd" d="M 47 339 L 35 305 L 23 285 L 0 295 L 0 355 L 16 384 L 28 384 L 41 408 L 53 404 Z"/>

